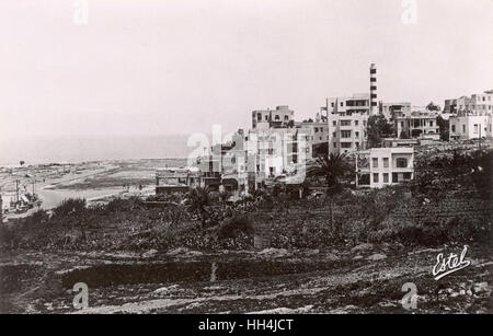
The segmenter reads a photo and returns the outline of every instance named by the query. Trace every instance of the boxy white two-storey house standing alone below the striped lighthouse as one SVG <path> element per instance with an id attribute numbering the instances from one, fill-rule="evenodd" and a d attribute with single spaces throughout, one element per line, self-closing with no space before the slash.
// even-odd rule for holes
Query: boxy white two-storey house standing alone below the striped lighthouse
<path id="1" fill-rule="evenodd" d="M 372 148 L 357 152 L 356 186 L 381 188 L 414 178 L 414 149 Z"/>

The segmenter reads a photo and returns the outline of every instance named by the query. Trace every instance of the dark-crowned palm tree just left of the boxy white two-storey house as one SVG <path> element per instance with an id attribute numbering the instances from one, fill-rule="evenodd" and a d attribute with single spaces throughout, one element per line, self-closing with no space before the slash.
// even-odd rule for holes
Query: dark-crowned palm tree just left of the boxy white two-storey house
<path id="1" fill-rule="evenodd" d="M 344 154 L 322 154 L 317 157 L 313 165 L 307 169 L 307 176 L 325 177 L 328 188 L 326 197 L 329 198 L 329 222 L 333 230 L 333 197 L 342 190 L 341 177 L 349 171 L 347 159 Z"/>

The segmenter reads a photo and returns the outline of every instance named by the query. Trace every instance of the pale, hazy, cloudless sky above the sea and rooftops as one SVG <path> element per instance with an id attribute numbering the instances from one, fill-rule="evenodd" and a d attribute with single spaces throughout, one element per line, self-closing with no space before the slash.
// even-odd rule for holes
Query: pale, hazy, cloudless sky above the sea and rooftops
<path id="1" fill-rule="evenodd" d="M 371 62 L 385 102 L 493 89 L 492 0 L 88 0 L 77 24 L 80 2 L 0 0 L 0 157 L 14 137 L 232 131 L 276 105 L 313 117 L 368 92 Z"/>

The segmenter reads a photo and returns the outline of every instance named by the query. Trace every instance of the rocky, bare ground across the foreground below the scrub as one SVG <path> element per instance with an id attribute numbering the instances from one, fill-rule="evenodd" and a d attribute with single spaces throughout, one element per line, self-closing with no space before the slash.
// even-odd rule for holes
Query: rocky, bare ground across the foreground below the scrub
<path id="1" fill-rule="evenodd" d="M 21 253 L 0 258 L 3 313 L 491 313 L 491 251 L 472 246 L 471 265 L 440 280 L 439 253 L 462 246 L 167 253 Z M 89 308 L 72 305 L 76 282 Z M 401 300 L 416 286 L 416 309 Z"/>

